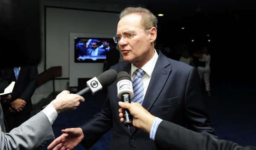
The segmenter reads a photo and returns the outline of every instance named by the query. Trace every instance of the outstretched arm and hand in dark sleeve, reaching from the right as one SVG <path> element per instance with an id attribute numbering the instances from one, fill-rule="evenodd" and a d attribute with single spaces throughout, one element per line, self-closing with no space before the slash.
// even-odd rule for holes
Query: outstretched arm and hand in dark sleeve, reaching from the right
<path id="1" fill-rule="evenodd" d="M 159 150 L 256 150 L 254 146 L 239 146 L 227 140 L 218 140 L 209 134 L 193 132 L 172 122 L 150 114 L 138 103 L 119 102 L 120 122 L 123 123 L 123 109 L 133 116 L 133 126 L 147 133 L 154 132 L 154 141 Z M 154 126 L 157 126 L 154 128 Z M 151 139 L 152 140 L 152 139 Z"/>

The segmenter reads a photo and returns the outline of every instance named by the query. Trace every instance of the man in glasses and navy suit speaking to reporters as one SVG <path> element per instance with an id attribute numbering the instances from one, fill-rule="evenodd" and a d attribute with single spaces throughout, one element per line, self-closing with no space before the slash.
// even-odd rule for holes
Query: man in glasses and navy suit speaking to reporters
<path id="1" fill-rule="evenodd" d="M 123 59 L 111 67 L 135 78 L 137 69 L 144 75 L 142 106 L 151 114 L 196 132 L 217 137 L 204 107 L 201 81 L 195 67 L 167 58 L 154 49 L 157 38 L 157 18 L 146 8 L 125 8 L 120 13 L 116 37 Z M 137 77 L 136 77 L 137 78 Z M 80 128 L 63 130 L 52 147 L 72 149 L 79 142 L 87 149 L 112 128 L 111 150 L 155 150 L 155 142 L 141 129 L 120 124 L 116 82 L 108 87 L 107 101 L 102 111 Z M 133 83 L 133 85 L 135 85 Z M 136 87 L 135 87 L 136 88 Z M 134 88 L 133 88 L 134 90 Z M 133 96 L 135 97 L 135 96 Z M 132 100 L 133 101 L 133 100 Z M 76 137 L 76 138 L 72 138 Z"/>

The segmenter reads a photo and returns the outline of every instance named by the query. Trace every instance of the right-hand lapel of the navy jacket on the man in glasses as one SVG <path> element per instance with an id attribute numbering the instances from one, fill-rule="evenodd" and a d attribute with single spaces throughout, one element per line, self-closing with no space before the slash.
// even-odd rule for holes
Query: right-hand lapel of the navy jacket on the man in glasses
<path id="1" fill-rule="evenodd" d="M 167 78 L 171 72 L 170 62 L 168 58 L 159 52 L 157 63 L 154 67 L 151 80 L 149 82 L 149 87 L 146 91 L 142 106 L 149 111 L 152 107 L 154 101 L 156 101 L 159 93 L 162 91 Z"/>

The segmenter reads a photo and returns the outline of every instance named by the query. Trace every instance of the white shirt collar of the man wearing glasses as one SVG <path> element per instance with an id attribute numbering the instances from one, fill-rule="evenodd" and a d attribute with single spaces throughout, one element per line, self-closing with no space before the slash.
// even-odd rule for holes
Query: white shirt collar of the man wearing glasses
<path id="1" fill-rule="evenodd" d="M 155 53 L 154 56 L 152 57 L 152 59 L 150 59 L 144 66 L 141 67 L 142 70 L 144 70 L 144 72 L 146 72 L 146 74 L 148 74 L 150 77 L 152 75 L 152 72 L 154 70 L 154 66 L 157 63 L 157 58 L 158 58 L 158 54 L 156 49 L 154 49 Z M 132 78 L 135 76 L 135 70 L 138 69 L 135 65 L 131 64 L 131 76 Z"/>

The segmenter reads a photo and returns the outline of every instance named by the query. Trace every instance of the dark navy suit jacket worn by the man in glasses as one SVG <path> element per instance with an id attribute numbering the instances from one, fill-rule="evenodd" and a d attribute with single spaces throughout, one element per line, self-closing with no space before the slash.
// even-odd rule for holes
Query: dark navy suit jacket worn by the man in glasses
<path id="1" fill-rule="evenodd" d="M 204 107 L 201 81 L 195 67 L 167 58 L 158 51 L 149 87 L 142 106 L 152 115 L 179 124 L 196 132 L 217 137 Z M 111 67 L 117 72 L 131 69 L 131 63 L 120 62 Z M 83 124 L 85 140 L 81 144 L 89 148 L 108 130 L 112 129 L 111 150 L 155 150 L 155 142 L 141 129 L 128 129 L 120 123 L 116 82 L 108 87 L 107 100 L 102 111 Z M 133 128 L 133 127 L 132 127 Z"/>

